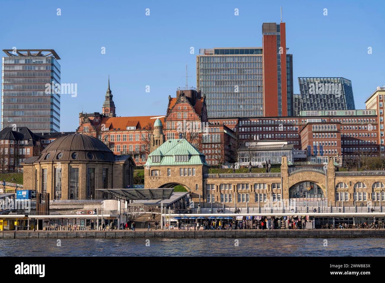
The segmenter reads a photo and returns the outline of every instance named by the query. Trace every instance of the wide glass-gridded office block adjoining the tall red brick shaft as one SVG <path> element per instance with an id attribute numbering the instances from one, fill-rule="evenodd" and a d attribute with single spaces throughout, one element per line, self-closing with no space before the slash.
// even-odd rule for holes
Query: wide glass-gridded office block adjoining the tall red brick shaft
<path id="1" fill-rule="evenodd" d="M 199 49 L 197 88 L 209 118 L 263 116 L 262 48 Z"/>

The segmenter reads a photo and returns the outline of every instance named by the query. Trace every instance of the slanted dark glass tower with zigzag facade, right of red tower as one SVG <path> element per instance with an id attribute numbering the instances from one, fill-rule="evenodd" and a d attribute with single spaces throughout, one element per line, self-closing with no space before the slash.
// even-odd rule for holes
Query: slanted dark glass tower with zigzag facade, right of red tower
<path id="1" fill-rule="evenodd" d="M 299 77 L 301 110 L 354 110 L 352 82 L 342 77 Z"/>

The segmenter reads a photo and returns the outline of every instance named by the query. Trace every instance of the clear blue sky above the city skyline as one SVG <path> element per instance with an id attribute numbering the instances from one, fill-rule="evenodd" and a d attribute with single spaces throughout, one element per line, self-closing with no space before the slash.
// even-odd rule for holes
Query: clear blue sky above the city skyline
<path id="1" fill-rule="evenodd" d="M 261 47 L 262 23 L 280 22 L 280 6 L 295 93 L 297 77 L 341 76 L 352 80 L 356 108 L 364 109 L 368 95 L 385 85 L 382 0 L 37 3 L 2 1 L 0 47 L 59 54 L 61 82 L 77 84 L 77 97 L 62 95 L 62 131 L 79 126 L 79 112 L 101 112 L 108 75 L 118 116 L 164 115 L 168 95 L 185 85 L 186 62 L 188 84 L 196 86 L 199 48 Z"/>

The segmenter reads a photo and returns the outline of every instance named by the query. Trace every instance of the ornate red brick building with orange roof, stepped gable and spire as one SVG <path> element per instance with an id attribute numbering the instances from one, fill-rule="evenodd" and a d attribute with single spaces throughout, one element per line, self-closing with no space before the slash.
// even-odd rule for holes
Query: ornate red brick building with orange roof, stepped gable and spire
<path id="1" fill-rule="evenodd" d="M 166 141 L 187 139 L 198 149 L 207 151 L 210 164 L 230 162 L 233 154 L 229 152 L 234 150 L 235 135 L 226 126 L 215 127 L 208 123 L 205 100 L 194 88 L 178 89 L 176 97 L 169 95 L 165 116 L 116 117 L 115 106 L 108 107 L 107 116 L 107 104 L 114 105 L 108 87 L 102 113 L 80 113 L 77 132 L 97 137 L 115 154 L 131 155 L 135 163 L 141 166 L 151 152 L 154 122 L 159 119 Z"/>

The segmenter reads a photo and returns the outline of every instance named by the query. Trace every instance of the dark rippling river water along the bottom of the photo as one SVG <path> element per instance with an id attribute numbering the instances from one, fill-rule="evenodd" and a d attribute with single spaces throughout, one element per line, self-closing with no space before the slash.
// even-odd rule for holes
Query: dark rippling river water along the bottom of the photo
<path id="1" fill-rule="evenodd" d="M 0 239 L 0 256 L 384 255 L 384 238 Z"/>

